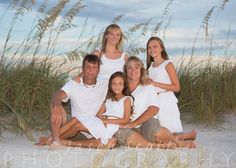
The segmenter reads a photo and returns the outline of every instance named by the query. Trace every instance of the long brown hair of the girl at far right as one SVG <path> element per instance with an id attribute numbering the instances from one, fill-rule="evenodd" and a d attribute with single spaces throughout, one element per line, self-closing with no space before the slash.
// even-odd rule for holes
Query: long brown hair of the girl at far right
<path id="1" fill-rule="evenodd" d="M 168 60 L 169 59 L 169 56 L 166 52 L 166 48 L 165 48 L 165 45 L 164 43 L 162 42 L 162 40 L 159 38 L 159 37 L 151 37 L 148 42 L 147 42 L 147 45 L 146 45 L 146 52 L 147 52 L 147 60 L 146 60 L 146 64 L 147 64 L 147 69 L 151 66 L 151 63 L 154 61 L 152 56 L 148 54 L 148 45 L 151 41 L 158 41 L 161 45 L 161 48 L 162 48 L 162 52 L 161 52 L 161 57 L 164 59 L 164 60 Z"/>

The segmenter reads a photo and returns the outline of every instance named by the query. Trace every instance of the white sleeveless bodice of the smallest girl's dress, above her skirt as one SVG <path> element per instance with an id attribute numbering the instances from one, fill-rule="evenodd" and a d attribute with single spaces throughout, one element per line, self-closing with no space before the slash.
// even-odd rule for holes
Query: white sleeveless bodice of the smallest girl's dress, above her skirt
<path id="1" fill-rule="evenodd" d="M 107 99 L 105 102 L 106 112 L 102 115 L 123 118 L 125 112 L 124 101 L 126 100 L 126 98 L 130 98 L 131 102 L 133 102 L 133 99 L 130 96 L 124 96 L 118 101 Z"/>

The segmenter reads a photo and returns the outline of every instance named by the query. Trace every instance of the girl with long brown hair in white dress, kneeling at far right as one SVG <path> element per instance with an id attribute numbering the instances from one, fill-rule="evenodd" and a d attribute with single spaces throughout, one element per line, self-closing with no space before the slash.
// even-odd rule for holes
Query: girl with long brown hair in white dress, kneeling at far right
<path id="1" fill-rule="evenodd" d="M 150 82 L 156 88 L 159 108 L 160 125 L 171 133 L 183 132 L 178 99 L 174 92 L 180 91 L 179 79 L 173 63 L 169 60 L 165 46 L 158 37 L 151 37 L 147 42 L 147 69 Z M 195 130 L 190 138 L 196 136 Z M 188 137 L 188 136 L 187 136 Z M 186 138 L 187 138 L 186 137 Z"/>

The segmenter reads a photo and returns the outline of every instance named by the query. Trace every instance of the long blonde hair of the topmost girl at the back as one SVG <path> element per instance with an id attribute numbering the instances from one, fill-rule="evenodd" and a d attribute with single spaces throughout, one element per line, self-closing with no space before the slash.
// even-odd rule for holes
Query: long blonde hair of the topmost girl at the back
<path id="1" fill-rule="evenodd" d="M 106 27 L 105 32 L 104 32 L 103 37 L 102 37 L 102 49 L 101 49 L 101 52 L 106 52 L 106 45 L 107 45 L 107 38 L 106 38 L 106 36 L 108 35 L 108 33 L 111 30 L 114 30 L 114 29 L 120 30 L 120 33 L 121 33 L 120 40 L 119 40 L 118 44 L 116 45 L 116 49 L 117 50 L 121 50 L 122 49 L 123 38 L 124 38 L 123 37 L 123 32 L 122 32 L 122 30 L 121 30 L 119 25 L 117 25 L 117 24 L 110 24 L 109 26 Z"/>

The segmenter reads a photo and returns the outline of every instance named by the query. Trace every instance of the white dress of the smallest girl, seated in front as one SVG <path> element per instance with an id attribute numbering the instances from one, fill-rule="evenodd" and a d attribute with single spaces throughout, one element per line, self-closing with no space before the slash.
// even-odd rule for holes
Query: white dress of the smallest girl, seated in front
<path id="1" fill-rule="evenodd" d="M 124 101 L 129 96 L 124 96 L 119 101 L 112 101 L 107 99 L 105 102 L 106 112 L 103 113 L 109 119 L 123 118 L 124 117 Z M 102 120 L 96 116 L 80 116 L 77 119 L 89 130 L 90 134 L 101 140 L 103 144 L 106 144 L 108 140 L 118 131 L 119 125 L 107 124 L 105 126 Z"/>

